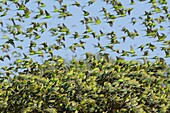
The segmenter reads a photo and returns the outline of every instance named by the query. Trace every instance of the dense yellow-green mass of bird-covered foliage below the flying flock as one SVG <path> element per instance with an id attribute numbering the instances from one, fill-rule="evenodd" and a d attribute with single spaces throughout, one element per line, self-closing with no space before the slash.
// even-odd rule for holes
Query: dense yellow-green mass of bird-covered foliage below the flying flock
<path id="1" fill-rule="evenodd" d="M 170 68 L 164 61 L 142 64 L 89 55 L 69 63 L 58 57 L 37 70 L 2 77 L 0 111 L 170 112 Z"/>

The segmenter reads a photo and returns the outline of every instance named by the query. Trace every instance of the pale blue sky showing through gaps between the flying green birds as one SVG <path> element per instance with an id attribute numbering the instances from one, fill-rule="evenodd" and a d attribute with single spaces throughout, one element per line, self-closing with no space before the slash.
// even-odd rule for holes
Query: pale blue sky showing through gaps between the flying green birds
<path id="1" fill-rule="evenodd" d="M 82 0 L 77 0 L 77 1 L 82 6 L 87 5 L 87 1 L 85 1 L 85 2 L 84 1 L 82 2 Z M 162 46 L 161 43 L 155 42 L 156 39 L 148 38 L 148 37 L 145 36 L 145 32 L 143 31 L 144 26 L 141 25 L 142 21 L 140 21 L 138 19 L 139 16 L 142 16 L 144 14 L 144 11 L 150 10 L 151 4 L 148 4 L 147 3 L 148 1 L 147 2 L 139 2 L 139 1 L 136 0 L 135 5 L 130 5 L 130 0 L 120 0 L 120 1 L 122 2 L 122 4 L 126 8 L 133 7 L 134 10 L 131 12 L 131 15 L 129 15 L 127 17 L 122 17 L 122 18 L 116 19 L 112 27 L 110 27 L 106 23 L 106 20 L 102 19 L 102 18 L 104 18 L 103 13 L 99 13 L 99 11 L 102 9 L 102 7 L 107 8 L 108 11 L 113 11 L 111 9 L 111 5 L 105 4 L 104 2 L 102 2 L 102 0 L 96 0 L 96 2 L 93 5 L 91 5 L 89 7 L 85 7 L 83 10 L 89 11 L 90 12 L 89 16 L 91 16 L 91 17 L 97 17 L 98 16 L 102 21 L 102 24 L 100 24 L 100 25 L 91 24 L 90 25 L 91 29 L 94 30 L 97 33 L 99 33 L 99 30 L 102 30 L 104 33 L 114 31 L 114 32 L 116 32 L 118 39 L 121 36 L 125 35 L 121 31 L 122 27 L 126 27 L 130 31 L 133 31 L 134 29 L 136 29 L 140 34 L 138 37 L 136 37 L 133 40 L 130 39 L 130 38 L 127 38 L 127 40 L 125 42 L 123 42 L 121 39 L 119 39 L 120 44 L 114 45 L 114 48 L 117 48 L 117 49 L 120 49 L 120 50 L 130 50 L 130 46 L 132 46 L 135 49 L 138 56 L 133 57 L 133 58 L 132 57 L 124 57 L 126 60 L 132 60 L 132 59 L 137 60 L 137 58 L 141 57 L 143 55 L 143 52 L 140 52 L 140 50 L 137 49 L 137 48 L 140 45 L 145 45 L 146 43 L 149 43 L 149 42 L 151 42 L 152 44 L 155 44 L 157 46 L 157 49 L 154 52 L 149 51 L 150 52 L 149 58 L 152 58 L 155 55 L 164 57 L 165 53 L 161 52 L 161 49 L 160 49 L 160 47 Z M 75 7 L 75 6 L 69 6 L 70 4 L 75 2 L 74 0 L 67 0 L 67 1 L 65 0 L 63 2 L 63 4 L 68 4 L 68 11 L 71 14 L 73 14 L 72 17 L 68 17 L 65 20 L 58 19 L 57 18 L 58 14 L 52 12 L 53 11 L 53 5 L 60 8 L 60 5 L 56 0 L 48 0 L 48 1 L 42 0 L 42 2 L 46 4 L 46 7 L 44 7 L 43 9 L 46 9 L 47 11 L 49 11 L 50 14 L 53 16 L 51 19 L 34 20 L 33 18 L 29 18 L 29 19 L 26 19 L 24 23 L 19 23 L 21 26 L 23 26 L 23 28 L 22 28 L 23 30 L 26 30 L 27 27 L 31 26 L 30 23 L 33 22 L 33 21 L 35 21 L 35 22 L 45 21 L 45 22 L 48 23 L 47 31 L 44 32 L 43 34 L 41 34 L 40 39 L 34 40 L 35 42 L 37 42 L 37 48 L 40 46 L 39 44 L 41 44 L 43 42 L 47 42 L 49 45 L 56 43 L 55 40 L 57 39 L 57 37 L 52 37 L 48 30 L 51 27 L 57 27 L 58 24 L 64 23 L 71 30 L 71 33 L 74 33 L 75 31 L 77 31 L 80 34 L 82 34 L 85 31 L 85 25 L 82 25 L 80 23 L 80 20 L 83 19 L 82 9 Z M 38 11 L 37 5 L 35 4 L 35 2 L 31 1 L 26 6 L 29 9 L 33 10 L 32 16 L 35 16 L 36 12 Z M 168 2 L 168 6 L 170 6 L 170 2 Z M 10 4 L 9 8 L 13 9 L 13 10 L 10 11 L 7 14 L 7 17 L 0 18 L 0 20 L 3 21 L 4 23 L 12 24 L 12 23 L 10 23 L 10 21 L 7 20 L 7 18 L 15 17 L 17 10 L 16 10 L 16 7 L 15 7 L 14 4 Z M 155 15 L 155 17 L 157 17 L 157 16 L 159 16 L 159 14 Z M 132 17 L 135 17 L 138 20 L 135 25 L 130 24 Z M 168 28 L 169 22 L 167 21 L 165 24 L 163 24 L 163 26 L 165 27 L 165 30 L 162 31 L 162 32 L 167 35 L 166 40 L 170 40 L 170 33 L 169 33 L 170 29 Z M 158 26 L 158 28 L 159 28 L 159 26 Z M 2 29 L 4 29 L 4 27 Z M 7 35 L 9 38 L 12 37 L 9 34 L 1 34 L 1 37 L 3 37 L 4 35 Z M 83 54 L 85 52 L 96 53 L 98 51 L 98 49 L 94 48 L 93 44 L 97 44 L 99 42 L 101 45 L 105 46 L 105 45 L 108 45 L 108 43 L 109 43 L 109 40 L 106 37 L 101 37 L 100 41 L 98 41 L 94 38 L 89 38 L 89 39 L 85 39 L 85 40 L 83 39 L 83 41 L 86 42 L 86 46 L 85 46 L 86 49 L 83 50 L 82 48 L 79 48 L 79 49 L 76 50 L 76 53 L 72 53 L 69 49 L 69 46 L 72 45 L 75 42 L 79 42 L 79 39 L 74 40 L 71 37 L 72 37 L 72 35 L 68 35 L 66 37 L 66 40 L 65 40 L 66 48 L 61 49 L 59 51 L 54 51 L 54 53 L 56 55 L 63 56 L 65 59 L 71 59 L 72 56 L 75 56 L 75 55 L 77 56 L 77 58 L 83 58 L 84 57 Z M 23 35 L 18 36 L 18 38 L 24 40 L 23 42 L 16 42 L 16 45 L 22 45 L 23 46 L 23 48 L 24 48 L 23 51 L 16 49 L 16 48 L 11 48 L 11 51 L 8 52 L 8 54 L 11 54 L 12 51 L 20 51 L 21 53 L 24 52 L 24 53 L 28 54 L 29 43 L 30 43 L 31 40 L 33 40 L 33 38 L 28 39 L 28 38 L 23 37 Z M 7 40 L 1 39 L 0 41 L 1 41 L 1 43 L 4 43 Z M 109 53 L 113 58 L 115 56 L 118 56 L 118 54 L 113 53 L 111 51 L 106 50 L 106 52 Z M 2 53 L 1 50 L 0 50 L 0 53 Z M 2 54 L 4 54 L 4 53 L 2 53 Z M 5 54 L 7 54 L 7 53 L 5 53 Z M 42 59 L 42 58 L 39 58 L 39 57 L 36 57 L 36 56 L 32 56 L 32 58 L 35 61 L 38 61 L 40 63 L 42 63 L 46 59 L 46 58 Z M 14 61 L 15 59 L 17 59 L 17 58 L 11 57 L 11 61 L 9 61 L 8 59 L 5 59 L 4 62 L 0 61 L 0 66 L 7 65 L 8 63 Z M 166 61 L 168 63 L 170 63 L 169 59 L 166 59 Z"/>

